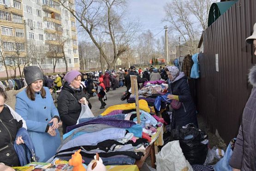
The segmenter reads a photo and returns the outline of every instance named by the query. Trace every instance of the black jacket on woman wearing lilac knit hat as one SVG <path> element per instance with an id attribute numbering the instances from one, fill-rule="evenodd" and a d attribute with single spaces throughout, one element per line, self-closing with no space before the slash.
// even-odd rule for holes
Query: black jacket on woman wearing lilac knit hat
<path id="1" fill-rule="evenodd" d="M 63 133 L 66 127 L 77 124 L 80 112 L 82 110 L 81 103 L 78 101 L 86 97 L 82 89 L 74 90 L 71 86 L 64 83 L 60 95 L 58 97 L 58 111 L 60 120 L 62 120 Z"/>

